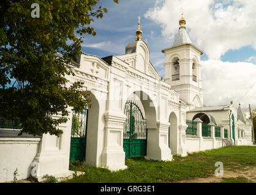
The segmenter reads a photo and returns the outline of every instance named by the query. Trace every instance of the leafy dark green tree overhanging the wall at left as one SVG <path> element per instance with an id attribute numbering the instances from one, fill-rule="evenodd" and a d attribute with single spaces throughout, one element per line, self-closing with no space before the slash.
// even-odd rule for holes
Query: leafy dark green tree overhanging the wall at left
<path id="1" fill-rule="evenodd" d="M 99 0 L 0 2 L 0 118 L 20 118 L 21 133 L 61 135 L 57 126 L 67 121 L 67 106 L 88 105 L 83 83 L 69 86 L 66 76 L 74 75 L 70 64 L 82 35 L 96 35 L 89 24 L 103 13 Z M 58 113 L 61 118 L 52 118 Z"/>

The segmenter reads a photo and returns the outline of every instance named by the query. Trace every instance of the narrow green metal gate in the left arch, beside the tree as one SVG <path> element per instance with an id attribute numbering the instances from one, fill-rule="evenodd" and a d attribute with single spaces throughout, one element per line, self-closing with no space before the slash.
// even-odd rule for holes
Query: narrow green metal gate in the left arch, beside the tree
<path id="1" fill-rule="evenodd" d="M 73 112 L 69 160 L 85 160 L 87 124 L 88 107 L 83 112 Z"/>

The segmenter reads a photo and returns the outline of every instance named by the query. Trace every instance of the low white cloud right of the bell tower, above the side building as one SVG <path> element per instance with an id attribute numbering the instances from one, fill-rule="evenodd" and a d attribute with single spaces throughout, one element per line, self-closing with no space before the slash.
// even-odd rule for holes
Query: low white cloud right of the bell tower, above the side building
<path id="1" fill-rule="evenodd" d="M 234 101 L 242 108 L 256 107 L 256 65 L 247 62 L 201 61 L 205 105 Z"/>

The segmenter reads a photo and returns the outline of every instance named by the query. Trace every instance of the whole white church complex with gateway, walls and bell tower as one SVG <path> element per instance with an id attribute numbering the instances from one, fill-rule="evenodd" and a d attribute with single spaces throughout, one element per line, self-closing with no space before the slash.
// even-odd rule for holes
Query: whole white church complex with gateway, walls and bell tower
<path id="1" fill-rule="evenodd" d="M 203 51 L 190 41 L 183 16 L 179 26 L 173 46 L 162 49 L 164 80 L 150 62 L 140 20 L 124 55 L 77 57 L 69 65 L 75 76 L 67 79 L 84 83 L 91 108 L 73 113 L 69 107 L 61 137 L 18 137 L 19 129 L 0 123 L 0 182 L 11 181 L 16 168 L 18 179 L 32 175 L 40 181 L 45 174 L 71 176 L 70 161 L 116 171 L 127 168 L 129 157 L 171 161 L 188 152 L 252 145 L 252 124 L 240 105 L 203 104 Z"/>

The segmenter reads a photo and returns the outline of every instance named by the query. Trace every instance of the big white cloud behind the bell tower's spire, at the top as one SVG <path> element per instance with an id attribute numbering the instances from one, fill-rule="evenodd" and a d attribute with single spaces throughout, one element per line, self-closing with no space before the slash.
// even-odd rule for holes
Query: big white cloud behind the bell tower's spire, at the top
<path id="1" fill-rule="evenodd" d="M 164 0 L 162 4 L 157 1 L 145 17 L 162 26 L 162 34 L 173 41 L 181 7 L 190 38 L 209 59 L 220 59 L 228 50 L 248 45 L 256 49 L 255 0 Z"/>

